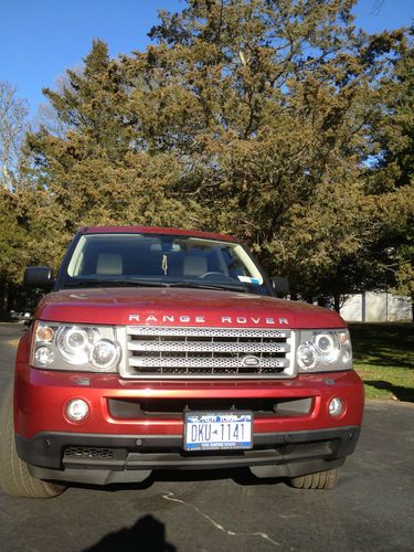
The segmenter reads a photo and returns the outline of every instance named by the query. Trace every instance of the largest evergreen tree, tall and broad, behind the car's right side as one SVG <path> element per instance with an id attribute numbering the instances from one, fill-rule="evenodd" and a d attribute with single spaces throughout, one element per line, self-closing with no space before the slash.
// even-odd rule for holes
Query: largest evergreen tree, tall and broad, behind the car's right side
<path id="1" fill-rule="evenodd" d="M 146 144 L 188 159 L 177 194 L 309 298 L 384 279 L 365 252 L 392 198 L 365 185 L 368 129 L 404 36 L 357 33 L 352 6 L 190 1 L 124 60 L 127 81 L 146 75 L 135 91 Z"/>

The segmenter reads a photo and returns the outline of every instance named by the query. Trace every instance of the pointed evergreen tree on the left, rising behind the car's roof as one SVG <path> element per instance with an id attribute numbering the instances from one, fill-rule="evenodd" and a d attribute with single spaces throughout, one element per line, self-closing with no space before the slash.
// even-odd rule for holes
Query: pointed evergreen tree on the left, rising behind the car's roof
<path id="1" fill-rule="evenodd" d="M 195 208 L 168 193 L 180 172 L 174 156 L 141 147 L 130 91 L 106 44 L 94 41 L 84 62 L 82 73 L 67 72 L 61 92 L 43 91 L 65 135 L 41 127 L 28 137 L 38 181 L 31 229 L 47 230 L 54 266 L 82 225 L 198 221 Z"/>

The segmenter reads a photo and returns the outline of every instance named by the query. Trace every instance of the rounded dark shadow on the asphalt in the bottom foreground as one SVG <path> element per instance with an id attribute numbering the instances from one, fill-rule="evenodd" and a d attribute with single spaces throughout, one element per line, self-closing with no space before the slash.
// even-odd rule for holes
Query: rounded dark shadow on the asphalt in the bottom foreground
<path id="1" fill-rule="evenodd" d="M 166 527 L 153 516 L 144 516 L 131 528 L 105 535 L 84 552 L 106 551 L 176 552 L 176 546 L 166 541 Z"/>

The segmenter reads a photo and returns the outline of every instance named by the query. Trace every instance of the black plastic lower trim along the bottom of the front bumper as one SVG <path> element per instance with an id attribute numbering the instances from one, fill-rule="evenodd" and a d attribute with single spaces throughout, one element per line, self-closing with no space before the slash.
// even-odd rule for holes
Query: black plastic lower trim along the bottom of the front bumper
<path id="1" fill-rule="evenodd" d="M 96 435 L 43 432 L 31 439 L 17 436 L 20 458 L 47 469 L 205 469 L 288 464 L 299 460 L 335 460 L 351 454 L 357 445 L 358 426 L 291 433 L 264 433 L 253 437 L 252 450 L 182 450 L 182 435 Z M 295 445 L 299 446 L 295 446 Z M 306 446 L 306 445 L 309 446 Z M 102 447 L 123 450 L 116 459 L 64 458 L 66 447 Z"/>

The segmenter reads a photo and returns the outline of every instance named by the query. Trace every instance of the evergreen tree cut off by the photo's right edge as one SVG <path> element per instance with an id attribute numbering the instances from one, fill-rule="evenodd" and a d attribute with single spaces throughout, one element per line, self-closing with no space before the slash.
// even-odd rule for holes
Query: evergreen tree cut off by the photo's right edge
<path id="1" fill-rule="evenodd" d="M 369 187 L 379 194 L 383 224 L 374 243 L 385 285 L 414 298 L 414 44 L 413 30 L 382 83 L 383 105 L 373 125 L 378 161 Z M 385 286 L 384 286 L 385 287 Z"/>

